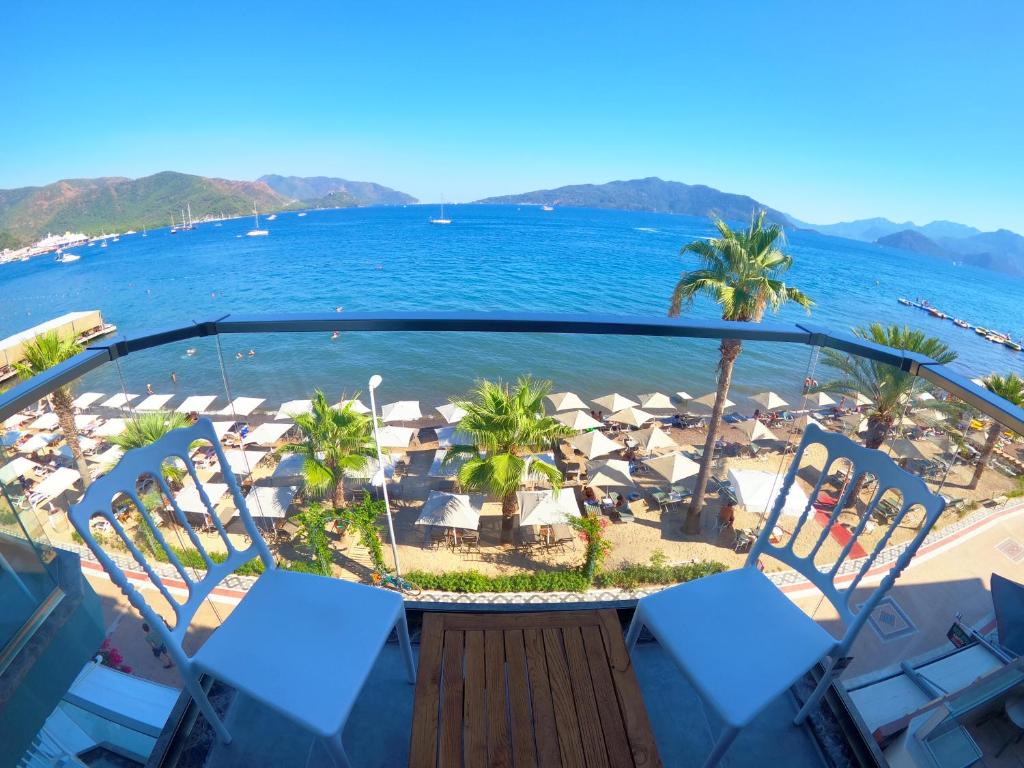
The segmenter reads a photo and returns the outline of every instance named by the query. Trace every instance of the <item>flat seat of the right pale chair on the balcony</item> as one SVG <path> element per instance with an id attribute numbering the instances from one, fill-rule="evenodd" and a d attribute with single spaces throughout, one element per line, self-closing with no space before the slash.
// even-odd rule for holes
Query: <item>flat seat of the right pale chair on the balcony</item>
<path id="1" fill-rule="evenodd" d="M 657 592 L 637 611 L 700 695 L 737 728 L 837 644 L 753 567 Z"/>

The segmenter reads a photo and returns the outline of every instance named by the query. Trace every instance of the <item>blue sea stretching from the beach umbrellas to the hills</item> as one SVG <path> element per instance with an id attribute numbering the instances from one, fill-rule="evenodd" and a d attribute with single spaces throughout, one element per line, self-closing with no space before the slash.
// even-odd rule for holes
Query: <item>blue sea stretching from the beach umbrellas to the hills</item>
<path id="1" fill-rule="evenodd" d="M 685 264 L 680 247 L 711 233 L 686 216 L 586 209 L 545 212 L 531 206 L 451 206 L 449 226 L 428 223 L 428 206 L 280 214 L 266 238 L 246 238 L 251 219 L 122 237 L 109 248 L 73 249 L 81 260 L 51 257 L 0 266 L 0 336 L 77 309 L 98 308 L 120 332 L 134 334 L 230 312 L 352 310 L 521 310 L 664 315 Z M 962 372 L 1024 371 L 1013 352 L 948 321 L 901 306 L 921 297 L 972 323 L 1024 333 L 1024 281 L 953 266 L 901 251 L 814 232 L 791 232 L 790 282 L 817 301 L 778 315 L 848 329 L 906 323 L 951 344 Z M 716 315 L 699 302 L 695 316 Z M 186 348 L 194 347 L 194 355 Z M 255 355 L 250 356 L 252 349 Z M 241 359 L 237 357 L 242 353 Z M 220 355 L 234 395 L 269 404 L 366 391 L 381 373 L 384 401 L 416 398 L 425 407 L 465 391 L 479 376 L 534 373 L 584 396 L 713 388 L 710 341 L 535 335 L 281 334 L 224 336 L 133 354 L 78 385 L 222 395 Z M 766 388 L 799 391 L 810 350 L 748 344 L 737 368 L 741 399 Z M 177 383 L 170 380 L 175 372 Z M 818 371 L 816 378 L 825 375 Z M 734 397 L 734 399 L 736 399 Z M 171 402 L 176 404 L 177 400 Z M 223 404 L 223 401 L 220 401 Z"/>

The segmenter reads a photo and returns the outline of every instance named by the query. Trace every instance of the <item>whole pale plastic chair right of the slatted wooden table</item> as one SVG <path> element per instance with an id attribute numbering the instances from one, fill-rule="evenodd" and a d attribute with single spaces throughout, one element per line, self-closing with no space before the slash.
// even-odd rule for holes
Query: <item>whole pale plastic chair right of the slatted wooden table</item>
<path id="1" fill-rule="evenodd" d="M 812 444 L 822 445 L 827 452 L 820 478 L 793 536 L 784 544 L 772 544 L 772 529 L 796 479 L 801 458 Z M 834 462 L 844 459 L 852 465 L 850 481 L 814 547 L 806 555 L 798 555 L 793 545 L 807 518 L 814 513 L 813 500 L 817 498 Z M 858 484 L 855 478 L 864 473 L 878 478 L 867 510 L 835 564 L 827 570 L 819 570 L 814 558 L 846 506 L 849 494 Z M 855 568 L 852 581 L 837 586 L 836 577 L 842 564 L 874 507 L 889 489 L 899 492 L 902 498 L 899 512 L 864 562 Z M 924 523 L 892 563 L 879 587 L 854 613 L 850 605 L 854 590 L 886 548 L 893 530 L 913 507 L 924 508 Z M 745 566 L 681 584 L 640 599 L 626 636 L 627 646 L 632 650 L 640 631 L 646 627 L 693 683 L 701 698 L 725 722 L 719 740 L 705 762 L 706 768 L 718 764 L 740 728 L 749 725 L 815 664 L 826 659 L 825 674 L 795 719 L 796 724 L 803 723 L 838 673 L 837 663 L 847 655 L 871 610 L 913 557 L 943 507 L 942 498 L 932 494 L 920 477 L 897 467 L 882 452 L 857 445 L 842 434 L 808 424 L 774 508 L 751 548 Z M 761 572 L 757 565 L 762 554 L 795 568 L 821 591 L 847 628 L 840 639 L 825 632 Z M 764 652 L 752 652 L 752 638 L 757 638 L 757 644 Z"/>

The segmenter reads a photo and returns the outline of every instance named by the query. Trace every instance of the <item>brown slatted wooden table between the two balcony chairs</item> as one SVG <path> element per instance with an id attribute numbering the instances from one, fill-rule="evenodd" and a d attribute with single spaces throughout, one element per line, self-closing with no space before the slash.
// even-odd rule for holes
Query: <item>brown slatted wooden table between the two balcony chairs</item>
<path id="1" fill-rule="evenodd" d="M 659 766 L 615 612 L 425 614 L 409 764 Z"/>

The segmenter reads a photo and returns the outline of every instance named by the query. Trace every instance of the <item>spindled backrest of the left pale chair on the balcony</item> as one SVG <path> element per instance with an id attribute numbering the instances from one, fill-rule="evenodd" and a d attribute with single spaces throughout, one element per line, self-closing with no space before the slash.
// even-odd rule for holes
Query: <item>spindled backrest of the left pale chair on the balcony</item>
<path id="1" fill-rule="evenodd" d="M 197 440 L 205 440 L 209 442 L 213 446 L 217 456 L 220 470 L 224 476 L 224 482 L 227 484 L 231 493 L 234 506 L 242 518 L 242 523 L 251 539 L 251 544 L 245 549 L 240 550 L 231 543 L 223 524 L 214 513 L 214 505 L 211 503 L 206 490 L 203 487 L 203 483 L 200 481 L 199 476 L 196 473 L 196 466 L 189 457 L 189 449 Z M 220 538 L 227 550 L 227 558 L 223 562 L 214 562 L 207 552 L 206 547 L 203 546 L 202 541 L 197 536 L 196 530 L 189 523 L 187 516 L 178 506 L 178 503 L 174 498 L 174 494 L 172 493 L 163 472 L 166 462 L 169 459 L 182 462 L 188 472 L 188 475 L 191 477 L 193 482 L 196 483 L 199 496 L 202 499 L 210 519 L 216 527 L 217 532 L 220 535 Z M 154 519 L 153 513 L 145 508 L 145 505 L 143 505 L 139 499 L 137 485 L 139 478 L 142 476 L 154 478 L 154 480 L 160 485 L 160 489 L 163 492 L 163 495 L 170 500 L 171 506 L 174 510 L 175 521 L 183 528 L 188 537 L 188 540 L 191 542 L 191 545 L 196 548 L 205 563 L 206 572 L 199 574 L 200 578 L 196 578 L 198 573 L 195 568 L 186 567 L 181 562 L 180 558 L 174 553 L 174 550 L 168 545 L 168 542 L 164 537 L 164 532 L 157 525 L 157 521 Z M 164 553 L 166 553 L 167 560 L 177 571 L 181 581 L 185 583 L 188 589 L 188 596 L 184 601 L 176 599 L 168 590 L 167 586 L 164 584 L 163 580 L 151 563 L 152 555 L 143 553 L 138 549 L 131 537 L 125 532 L 124 527 L 121 525 L 121 521 L 118 520 L 117 515 L 114 512 L 114 501 L 116 499 L 124 499 L 125 497 L 132 501 L 139 514 L 144 518 L 143 524 L 150 526 L 150 530 L 153 534 L 153 539 L 156 541 L 157 546 L 159 546 Z M 71 519 L 72 525 L 75 526 L 75 529 L 82 537 L 85 544 L 90 550 L 92 550 L 100 564 L 102 564 L 104 570 L 106 570 L 108 574 L 111 577 L 111 580 L 121 589 L 131 604 L 142 613 L 150 626 L 164 636 L 168 649 L 177 651 L 177 653 L 172 653 L 172 655 L 175 656 L 181 652 L 181 641 L 184 639 L 184 634 L 188 629 L 188 624 L 191 622 L 196 610 L 199 608 L 203 600 L 205 600 L 210 594 L 210 591 L 213 590 L 213 588 L 216 587 L 224 577 L 255 557 L 259 557 L 263 561 L 265 567 L 274 567 L 273 557 L 270 554 L 270 550 L 267 549 L 263 538 L 260 536 L 259 529 L 256 527 L 252 516 L 249 514 L 245 500 L 242 498 L 242 492 L 239 488 L 238 481 L 236 480 L 230 467 L 228 467 L 227 460 L 224 458 L 223 449 L 221 449 L 217 435 L 214 432 L 213 424 L 209 419 L 205 418 L 200 419 L 193 426 L 175 429 L 150 445 L 132 449 L 127 452 L 113 470 L 108 472 L 98 480 L 95 480 L 89 486 L 89 489 L 85 493 L 85 496 L 82 497 L 81 501 L 71 507 L 68 512 L 68 516 Z M 128 551 L 144 569 L 146 575 L 153 582 L 153 585 L 160 591 L 164 599 L 174 609 L 175 624 L 173 629 L 168 629 L 163 620 L 146 602 L 145 598 L 142 597 L 142 594 L 126 578 L 121 567 L 108 554 L 103 546 L 92 536 L 90 521 L 96 516 L 104 519 L 114 528 L 114 531 L 118 535 L 118 537 L 120 537 L 121 541 L 128 548 Z M 154 557 L 152 559 L 157 558 Z"/>

